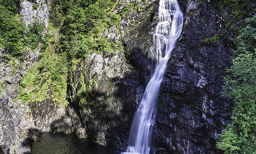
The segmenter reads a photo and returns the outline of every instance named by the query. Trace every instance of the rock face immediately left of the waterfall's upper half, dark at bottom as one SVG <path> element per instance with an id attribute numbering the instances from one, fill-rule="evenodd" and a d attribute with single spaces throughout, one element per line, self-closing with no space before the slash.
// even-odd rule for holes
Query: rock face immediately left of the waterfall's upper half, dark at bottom
<path id="1" fill-rule="evenodd" d="M 138 1 L 119 2 L 116 10 L 122 9 L 127 3 Z M 158 1 L 148 0 L 141 2 L 140 11 L 128 11 L 122 17 L 120 23 L 120 33 L 125 47 L 126 58 L 138 72 L 141 83 L 145 87 L 154 70 L 152 64 L 153 34 L 157 25 Z M 115 11 L 115 10 L 114 10 Z"/>

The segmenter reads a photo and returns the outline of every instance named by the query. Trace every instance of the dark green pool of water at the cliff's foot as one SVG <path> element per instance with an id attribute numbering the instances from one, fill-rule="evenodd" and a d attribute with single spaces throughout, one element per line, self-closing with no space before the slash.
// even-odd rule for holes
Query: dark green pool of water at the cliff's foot
<path id="1" fill-rule="evenodd" d="M 97 145 L 90 139 L 77 138 L 74 134 L 43 133 L 34 141 L 32 154 L 118 154 L 120 151 Z"/>

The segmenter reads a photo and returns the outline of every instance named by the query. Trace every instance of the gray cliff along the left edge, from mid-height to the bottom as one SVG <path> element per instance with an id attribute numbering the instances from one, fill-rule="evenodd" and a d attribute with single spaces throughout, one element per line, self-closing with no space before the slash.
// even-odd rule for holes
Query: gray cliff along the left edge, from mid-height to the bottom
<path id="1" fill-rule="evenodd" d="M 4 57 L 5 51 L 0 50 L 0 152 L 29 153 L 30 140 L 37 138 L 38 128 L 34 125 L 28 104 L 21 103 L 21 100 L 14 103 L 13 100 L 19 94 L 19 83 L 28 68 L 26 66 L 32 66 L 38 55 L 25 51 L 21 62 L 11 56 Z"/>

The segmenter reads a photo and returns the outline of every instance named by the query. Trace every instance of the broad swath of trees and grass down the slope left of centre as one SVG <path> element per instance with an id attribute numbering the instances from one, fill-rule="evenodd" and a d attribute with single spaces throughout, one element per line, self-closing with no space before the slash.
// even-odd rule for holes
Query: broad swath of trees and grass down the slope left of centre
<path id="1" fill-rule="evenodd" d="M 72 84 L 72 70 L 80 59 L 91 52 L 111 53 L 122 50 L 121 44 L 116 45 L 102 36 L 104 28 L 117 26 L 121 16 L 112 14 L 117 4 L 112 0 L 53 0 L 51 1 L 51 19 L 48 31 L 43 35 L 44 25 L 34 23 L 24 31 L 24 46 L 34 50 L 40 45 L 39 63 L 30 68 L 20 84 L 19 98 L 24 103 L 40 102 L 51 99 L 66 106 L 67 84 Z M 70 83 L 69 82 L 70 79 Z M 88 79 L 75 99 L 87 104 L 92 93 L 92 86 L 97 82 Z"/>

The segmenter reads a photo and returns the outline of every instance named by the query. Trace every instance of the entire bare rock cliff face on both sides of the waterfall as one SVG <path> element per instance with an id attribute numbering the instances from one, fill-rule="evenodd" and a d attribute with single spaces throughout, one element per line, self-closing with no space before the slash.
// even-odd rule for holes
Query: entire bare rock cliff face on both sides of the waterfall
<path id="1" fill-rule="evenodd" d="M 24 22 L 47 27 L 48 2 L 23 1 Z M 220 153 L 215 143 L 230 123 L 232 109 L 232 102 L 220 94 L 235 38 L 227 26 L 231 10 L 220 8 L 219 1 L 178 2 L 184 27 L 161 85 L 152 153 Z M 77 62 L 68 81 L 68 107 L 51 99 L 29 106 L 13 103 L 39 51 L 25 51 L 20 62 L 4 57 L 0 48 L 0 153 L 29 152 L 28 138 L 37 136 L 31 132 L 38 129 L 75 132 L 100 145 L 126 149 L 134 111 L 156 63 L 151 51 L 158 1 L 120 0 L 112 12 L 122 15 L 121 22 L 104 29 L 102 36 L 121 42 L 124 52 L 91 53 Z"/>

